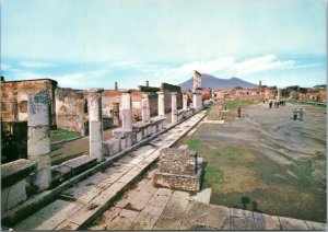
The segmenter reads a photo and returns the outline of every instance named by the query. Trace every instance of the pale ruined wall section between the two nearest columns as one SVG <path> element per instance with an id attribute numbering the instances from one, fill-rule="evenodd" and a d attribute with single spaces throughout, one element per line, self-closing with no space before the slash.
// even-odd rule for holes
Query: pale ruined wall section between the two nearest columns
<path id="1" fill-rule="evenodd" d="M 83 93 L 72 89 L 56 90 L 57 128 L 81 134 L 87 121 L 87 102 Z"/>

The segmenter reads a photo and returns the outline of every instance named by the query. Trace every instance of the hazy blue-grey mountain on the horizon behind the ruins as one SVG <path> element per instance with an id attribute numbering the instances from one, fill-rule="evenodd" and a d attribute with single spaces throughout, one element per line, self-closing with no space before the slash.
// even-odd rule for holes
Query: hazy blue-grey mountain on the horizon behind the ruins
<path id="1" fill-rule="evenodd" d="M 191 90 L 192 78 L 178 85 L 181 88 L 181 90 Z M 257 84 L 243 81 L 242 79 L 238 78 L 220 79 L 210 74 L 201 74 L 201 86 L 211 88 L 211 89 L 234 89 L 236 86 L 242 86 L 243 89 L 258 88 Z"/>

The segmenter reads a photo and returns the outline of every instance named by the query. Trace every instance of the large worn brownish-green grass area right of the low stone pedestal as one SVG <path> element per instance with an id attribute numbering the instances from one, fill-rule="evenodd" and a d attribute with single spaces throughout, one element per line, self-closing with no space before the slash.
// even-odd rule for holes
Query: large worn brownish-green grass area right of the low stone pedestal
<path id="1" fill-rule="evenodd" d="M 280 165 L 247 144 L 192 137 L 180 139 L 179 144 L 188 144 L 207 163 L 203 187 L 212 188 L 211 204 L 326 221 L 326 185 L 313 174 L 325 164 Z"/>

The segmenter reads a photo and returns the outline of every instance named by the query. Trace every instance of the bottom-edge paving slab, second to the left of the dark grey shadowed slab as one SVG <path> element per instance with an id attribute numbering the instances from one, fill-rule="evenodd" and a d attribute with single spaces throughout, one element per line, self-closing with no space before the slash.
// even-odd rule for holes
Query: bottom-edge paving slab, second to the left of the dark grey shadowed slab
<path id="1" fill-rule="evenodd" d="M 199 201 L 190 201 L 179 229 L 195 230 L 196 228 L 197 229 L 206 228 L 208 212 L 209 212 L 208 204 L 203 204 Z"/>

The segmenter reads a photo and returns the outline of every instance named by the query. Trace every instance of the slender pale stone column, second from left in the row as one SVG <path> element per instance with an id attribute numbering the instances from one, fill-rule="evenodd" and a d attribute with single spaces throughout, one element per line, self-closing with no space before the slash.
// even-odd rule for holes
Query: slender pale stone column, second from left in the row
<path id="1" fill-rule="evenodd" d="M 90 156 L 97 162 L 104 160 L 103 151 L 103 113 L 102 92 L 104 89 L 92 88 L 89 90 L 89 135 Z"/>

